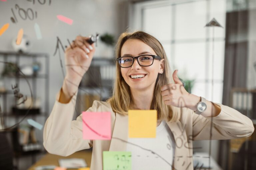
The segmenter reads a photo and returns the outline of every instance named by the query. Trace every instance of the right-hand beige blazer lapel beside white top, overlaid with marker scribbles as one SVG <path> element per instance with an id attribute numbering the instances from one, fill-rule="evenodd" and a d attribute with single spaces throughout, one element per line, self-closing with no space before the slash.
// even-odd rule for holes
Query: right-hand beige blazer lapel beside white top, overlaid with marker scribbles
<path id="1" fill-rule="evenodd" d="M 188 144 L 186 143 L 187 135 L 185 128 L 182 126 L 180 121 L 167 123 L 169 128 L 171 129 L 174 139 L 175 139 L 175 153 L 174 153 L 174 170 L 180 169 L 190 169 L 189 166 L 191 162 L 189 161 L 189 151 Z"/>

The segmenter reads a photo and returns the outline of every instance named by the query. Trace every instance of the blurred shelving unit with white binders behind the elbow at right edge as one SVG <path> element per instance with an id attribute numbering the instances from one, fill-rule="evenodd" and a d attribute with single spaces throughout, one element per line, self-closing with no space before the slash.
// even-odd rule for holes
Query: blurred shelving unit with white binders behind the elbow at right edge
<path id="1" fill-rule="evenodd" d="M 256 89 L 232 88 L 230 107 L 250 118 L 253 125 L 256 125 Z M 229 140 L 229 167 L 232 169 L 232 164 L 241 161 L 240 157 L 243 155 L 243 160 L 239 162 L 239 165 L 243 165 L 244 169 L 251 169 L 252 160 L 255 159 L 253 147 L 255 147 L 255 133 L 249 137 Z"/>

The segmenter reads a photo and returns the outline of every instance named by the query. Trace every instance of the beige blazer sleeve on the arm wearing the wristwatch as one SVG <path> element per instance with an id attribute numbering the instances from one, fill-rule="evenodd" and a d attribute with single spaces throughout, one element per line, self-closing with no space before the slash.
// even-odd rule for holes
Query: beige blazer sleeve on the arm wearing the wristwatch
<path id="1" fill-rule="evenodd" d="M 213 118 L 197 115 L 193 111 L 193 140 L 209 140 L 212 124 L 212 140 L 248 137 L 253 131 L 252 121 L 235 109 L 219 103 L 221 112 Z"/>

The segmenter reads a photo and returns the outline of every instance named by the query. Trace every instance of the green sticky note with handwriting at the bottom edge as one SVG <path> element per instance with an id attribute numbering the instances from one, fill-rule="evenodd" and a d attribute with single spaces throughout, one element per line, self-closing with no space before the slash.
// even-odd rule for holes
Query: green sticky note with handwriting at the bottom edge
<path id="1" fill-rule="evenodd" d="M 103 170 L 131 170 L 131 152 L 103 151 Z"/>

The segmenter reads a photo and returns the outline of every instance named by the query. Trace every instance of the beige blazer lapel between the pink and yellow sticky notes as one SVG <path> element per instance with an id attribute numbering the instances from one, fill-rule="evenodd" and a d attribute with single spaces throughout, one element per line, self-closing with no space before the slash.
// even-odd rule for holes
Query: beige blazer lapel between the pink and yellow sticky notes
<path id="1" fill-rule="evenodd" d="M 128 140 L 128 116 L 116 113 L 116 120 L 109 151 L 126 151 Z"/>

